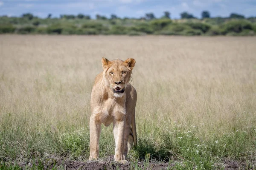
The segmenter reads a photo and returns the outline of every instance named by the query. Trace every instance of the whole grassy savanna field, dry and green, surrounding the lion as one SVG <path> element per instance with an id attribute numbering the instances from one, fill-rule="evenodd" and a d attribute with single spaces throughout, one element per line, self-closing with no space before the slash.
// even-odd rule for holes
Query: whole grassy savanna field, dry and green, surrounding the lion
<path id="1" fill-rule="evenodd" d="M 112 125 L 87 161 L 102 57 L 136 60 L 127 164 Z M 256 37 L 0 35 L 0 169 L 19 168 L 256 169 Z"/>

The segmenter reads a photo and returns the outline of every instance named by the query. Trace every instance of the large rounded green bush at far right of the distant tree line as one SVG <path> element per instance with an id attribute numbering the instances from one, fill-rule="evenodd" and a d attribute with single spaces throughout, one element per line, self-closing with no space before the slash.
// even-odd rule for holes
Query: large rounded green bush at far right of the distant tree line
<path id="1" fill-rule="evenodd" d="M 223 34 L 230 32 L 241 33 L 245 29 L 253 30 L 252 24 L 246 20 L 231 20 L 227 23 L 224 23 L 221 28 L 223 30 Z"/>

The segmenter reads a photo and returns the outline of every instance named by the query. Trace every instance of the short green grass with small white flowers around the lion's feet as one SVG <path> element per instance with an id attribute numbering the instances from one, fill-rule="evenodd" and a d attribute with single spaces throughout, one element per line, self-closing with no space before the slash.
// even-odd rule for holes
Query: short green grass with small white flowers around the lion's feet
<path id="1" fill-rule="evenodd" d="M 156 125 L 147 125 L 148 131 L 156 130 Z M 176 169 L 212 169 L 216 163 L 225 159 L 247 159 L 247 166 L 253 165 L 256 146 L 256 128 L 250 127 L 223 133 L 203 135 L 197 126 L 175 125 L 169 130 L 157 130 L 153 136 L 140 136 L 137 148 L 130 151 L 128 159 L 146 162 L 176 161 Z M 89 157 L 89 133 L 85 129 L 69 132 L 30 131 L 25 128 L 4 128 L 1 131 L 1 159 L 3 162 L 13 160 L 30 162 L 32 159 L 47 159 L 52 155 L 69 159 L 87 161 Z M 100 157 L 114 154 L 113 134 L 103 128 L 100 139 Z M 5 168 L 5 165 L 2 165 Z M 37 165 L 38 167 L 40 166 Z M 17 168 L 14 164 L 13 169 Z M 40 168 L 40 167 L 39 167 Z"/>

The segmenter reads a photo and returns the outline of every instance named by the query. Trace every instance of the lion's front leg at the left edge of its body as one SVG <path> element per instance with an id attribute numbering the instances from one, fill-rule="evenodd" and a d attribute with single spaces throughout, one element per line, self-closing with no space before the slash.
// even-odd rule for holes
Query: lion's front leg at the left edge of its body
<path id="1" fill-rule="evenodd" d="M 101 132 L 101 121 L 99 116 L 90 116 L 90 157 L 89 160 L 99 158 L 99 136 Z"/>

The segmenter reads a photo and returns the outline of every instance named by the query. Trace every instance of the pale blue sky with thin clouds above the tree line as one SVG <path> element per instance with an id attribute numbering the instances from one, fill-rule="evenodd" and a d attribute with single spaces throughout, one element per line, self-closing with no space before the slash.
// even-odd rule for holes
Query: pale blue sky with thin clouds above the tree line
<path id="1" fill-rule="evenodd" d="M 172 18 L 180 18 L 180 13 L 188 11 L 196 17 L 208 10 L 211 16 L 229 16 L 231 12 L 256 16 L 256 0 L 0 0 L 0 15 L 20 16 L 30 12 L 38 17 L 53 17 L 60 14 L 102 14 L 110 17 L 143 17 L 153 12 L 161 17 L 169 11 Z"/>

